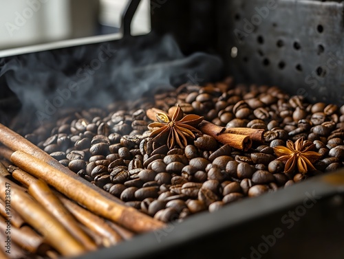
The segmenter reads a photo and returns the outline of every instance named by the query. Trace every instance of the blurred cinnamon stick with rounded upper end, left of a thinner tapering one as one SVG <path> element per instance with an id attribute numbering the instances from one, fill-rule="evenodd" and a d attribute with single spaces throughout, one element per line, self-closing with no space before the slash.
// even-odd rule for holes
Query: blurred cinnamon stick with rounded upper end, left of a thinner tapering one
<path id="1" fill-rule="evenodd" d="M 61 201 L 54 195 L 49 186 L 41 181 L 33 181 L 29 185 L 29 194 L 36 199 L 52 216 L 54 216 L 74 238 L 80 241 L 85 249 L 91 251 L 96 250 L 96 244 L 85 232 L 83 232 L 74 216 L 62 205 Z"/>

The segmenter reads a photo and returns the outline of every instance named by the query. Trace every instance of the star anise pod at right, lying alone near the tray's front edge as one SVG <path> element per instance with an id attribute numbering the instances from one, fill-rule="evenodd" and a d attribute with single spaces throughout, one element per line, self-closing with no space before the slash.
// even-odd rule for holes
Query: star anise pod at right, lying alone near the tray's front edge
<path id="1" fill-rule="evenodd" d="M 321 155 L 314 151 L 312 142 L 303 142 L 303 137 L 297 139 L 295 143 L 288 139 L 287 146 L 275 146 L 274 151 L 277 155 L 277 160 L 286 162 L 284 172 L 292 172 L 295 167 L 305 174 L 309 170 L 316 170 L 312 163 L 318 160 Z"/>

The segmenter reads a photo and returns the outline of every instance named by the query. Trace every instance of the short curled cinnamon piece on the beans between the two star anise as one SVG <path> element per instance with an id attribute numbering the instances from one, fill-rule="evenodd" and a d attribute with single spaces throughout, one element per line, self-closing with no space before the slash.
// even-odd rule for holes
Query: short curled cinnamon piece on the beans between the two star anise
<path id="1" fill-rule="evenodd" d="M 202 121 L 198 128 L 202 133 L 214 137 L 218 142 L 222 144 L 228 144 L 233 148 L 247 151 L 252 146 L 252 140 L 247 135 L 239 135 L 233 133 L 226 133 L 226 128 L 217 126 L 206 120 Z"/>

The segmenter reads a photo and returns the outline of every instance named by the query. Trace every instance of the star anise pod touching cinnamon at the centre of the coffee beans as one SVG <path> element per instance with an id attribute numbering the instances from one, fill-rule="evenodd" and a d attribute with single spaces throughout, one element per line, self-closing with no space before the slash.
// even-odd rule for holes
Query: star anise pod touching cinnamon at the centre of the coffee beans
<path id="1" fill-rule="evenodd" d="M 175 144 L 178 144 L 181 148 L 185 148 L 188 144 L 188 138 L 195 138 L 193 133 L 201 134 L 201 131 L 197 130 L 195 126 L 202 122 L 203 117 L 195 114 L 185 115 L 177 106 L 172 117 L 166 113 L 157 113 L 156 120 L 148 125 L 148 128 L 152 131 L 149 137 L 153 137 L 153 141 L 160 144 L 167 143 L 169 149 L 173 148 Z"/>

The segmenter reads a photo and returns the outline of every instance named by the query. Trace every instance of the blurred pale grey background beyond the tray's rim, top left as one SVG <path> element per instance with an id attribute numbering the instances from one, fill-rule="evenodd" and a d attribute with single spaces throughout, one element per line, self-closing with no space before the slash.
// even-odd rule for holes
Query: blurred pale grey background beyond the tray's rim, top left
<path id="1" fill-rule="evenodd" d="M 0 50 L 119 32 L 127 0 L 0 0 Z M 133 35 L 151 30 L 150 3 L 143 0 Z"/>

